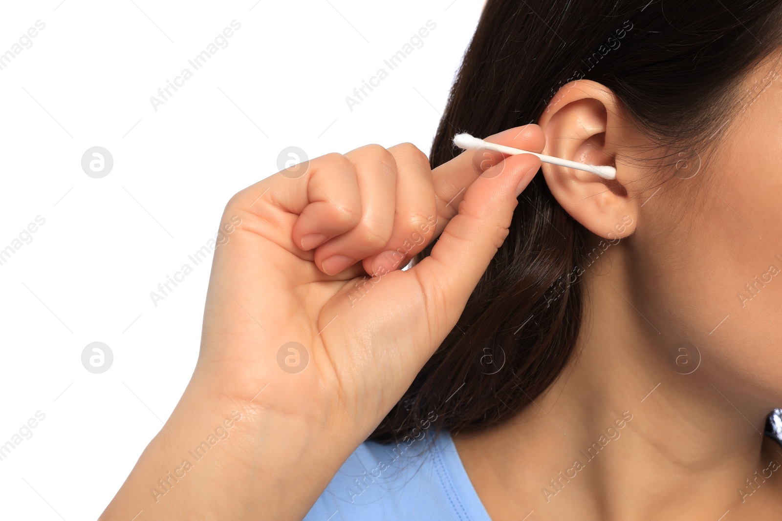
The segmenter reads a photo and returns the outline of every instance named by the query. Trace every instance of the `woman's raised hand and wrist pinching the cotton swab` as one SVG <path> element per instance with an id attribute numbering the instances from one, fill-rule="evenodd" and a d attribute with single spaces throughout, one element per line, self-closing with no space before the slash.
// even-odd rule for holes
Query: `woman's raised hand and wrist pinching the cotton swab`
<path id="1" fill-rule="evenodd" d="M 536 125 L 488 141 L 543 150 Z M 454 327 L 507 237 L 540 160 L 502 159 L 466 151 L 431 170 L 413 145 L 368 145 L 293 166 L 231 198 L 199 361 L 167 424 L 177 434 L 160 434 L 170 445 L 209 430 L 203 415 L 239 412 L 213 469 L 231 492 L 199 486 L 193 469 L 182 481 L 197 494 L 181 503 L 211 501 L 200 512 L 226 512 L 233 502 L 235 516 L 250 519 L 307 512 Z M 438 236 L 430 256 L 399 269 Z M 171 496 L 185 498 L 178 487 Z"/>

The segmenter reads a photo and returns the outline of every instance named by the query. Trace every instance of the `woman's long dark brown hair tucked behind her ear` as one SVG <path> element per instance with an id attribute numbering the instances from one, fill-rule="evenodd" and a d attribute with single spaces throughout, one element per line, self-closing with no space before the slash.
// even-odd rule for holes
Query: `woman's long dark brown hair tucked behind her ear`
<path id="1" fill-rule="evenodd" d="M 461 152 L 457 132 L 535 123 L 559 87 L 581 78 L 611 89 L 664 155 L 692 149 L 730 120 L 739 81 L 780 44 L 780 20 L 777 0 L 489 0 L 432 167 Z M 585 295 L 572 273 L 590 263 L 587 233 L 536 176 L 456 327 L 371 439 L 483 429 L 545 391 L 582 325 Z"/>

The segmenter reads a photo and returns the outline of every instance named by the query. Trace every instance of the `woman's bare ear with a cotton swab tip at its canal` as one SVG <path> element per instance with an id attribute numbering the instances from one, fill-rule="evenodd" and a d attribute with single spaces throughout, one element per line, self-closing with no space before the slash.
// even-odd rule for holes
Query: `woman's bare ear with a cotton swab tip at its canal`
<path id="1" fill-rule="evenodd" d="M 616 179 L 543 163 L 551 194 L 583 227 L 598 237 L 627 237 L 635 230 L 640 206 L 627 185 L 638 175 L 617 164 L 615 152 L 626 145 L 630 127 L 619 112 L 619 100 L 608 87 L 591 80 L 563 85 L 538 124 L 546 136 L 543 154 L 592 165 L 616 167 Z"/>

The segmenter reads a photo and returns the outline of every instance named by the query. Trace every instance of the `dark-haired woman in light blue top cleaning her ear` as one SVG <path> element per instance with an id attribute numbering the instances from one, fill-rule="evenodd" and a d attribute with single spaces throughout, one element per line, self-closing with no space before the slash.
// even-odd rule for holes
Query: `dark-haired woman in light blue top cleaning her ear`
<path id="1" fill-rule="evenodd" d="M 228 202 L 195 373 L 102 519 L 777 519 L 780 28 L 489 0 L 430 159 Z"/>

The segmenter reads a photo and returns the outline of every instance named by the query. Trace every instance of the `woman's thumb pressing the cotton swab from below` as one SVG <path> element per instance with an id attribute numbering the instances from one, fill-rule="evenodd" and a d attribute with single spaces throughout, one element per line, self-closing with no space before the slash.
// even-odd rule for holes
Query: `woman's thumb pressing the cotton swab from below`
<path id="1" fill-rule="evenodd" d="M 450 219 L 431 255 L 408 270 L 415 274 L 426 302 L 434 304 L 427 306 L 427 314 L 435 346 L 453 329 L 475 285 L 508 237 L 518 194 L 539 169 L 540 159 L 520 154 L 486 170 L 465 191 L 457 215 Z"/>

